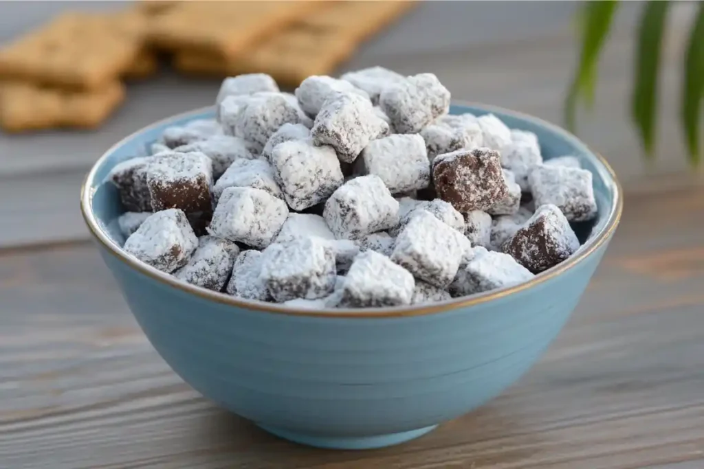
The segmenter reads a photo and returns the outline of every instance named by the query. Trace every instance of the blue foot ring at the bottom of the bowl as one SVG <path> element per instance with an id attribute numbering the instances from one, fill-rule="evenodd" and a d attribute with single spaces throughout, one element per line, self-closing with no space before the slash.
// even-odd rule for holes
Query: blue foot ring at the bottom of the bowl
<path id="1" fill-rule="evenodd" d="M 374 435 L 372 437 L 325 437 L 322 435 L 304 435 L 302 433 L 292 432 L 291 430 L 269 427 L 267 425 L 258 425 L 258 427 L 266 432 L 270 432 L 272 435 L 276 435 L 277 437 L 288 439 L 294 443 L 315 446 L 316 448 L 375 449 L 405 443 L 411 439 L 422 437 L 426 433 L 434 430 L 437 425 L 419 428 L 418 430 L 410 430 L 408 432 L 390 433 L 389 435 Z"/>

